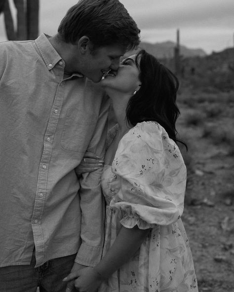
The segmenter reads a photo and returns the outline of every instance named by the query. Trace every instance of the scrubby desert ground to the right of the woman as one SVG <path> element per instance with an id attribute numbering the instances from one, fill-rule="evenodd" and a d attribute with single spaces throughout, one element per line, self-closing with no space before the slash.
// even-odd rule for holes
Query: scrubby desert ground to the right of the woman
<path id="1" fill-rule="evenodd" d="M 178 105 L 178 132 L 189 147 L 181 148 L 188 171 L 182 220 L 199 292 L 234 292 L 234 91 L 182 81 Z"/>

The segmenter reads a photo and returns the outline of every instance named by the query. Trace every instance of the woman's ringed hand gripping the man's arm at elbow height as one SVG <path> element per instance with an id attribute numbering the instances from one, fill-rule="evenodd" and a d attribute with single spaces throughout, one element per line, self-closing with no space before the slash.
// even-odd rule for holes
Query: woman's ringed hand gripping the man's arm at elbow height
<path id="1" fill-rule="evenodd" d="M 85 172 L 93 172 L 100 167 L 103 167 L 104 161 L 99 156 L 92 152 L 86 151 L 79 166 L 76 168 L 76 173 L 80 176 Z"/>

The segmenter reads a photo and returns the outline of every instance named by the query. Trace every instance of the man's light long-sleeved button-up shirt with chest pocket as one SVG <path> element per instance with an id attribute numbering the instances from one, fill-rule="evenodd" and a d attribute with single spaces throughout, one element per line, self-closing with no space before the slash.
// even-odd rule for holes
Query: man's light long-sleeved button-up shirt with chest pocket
<path id="1" fill-rule="evenodd" d="M 109 101 L 45 35 L 0 43 L 0 266 L 36 266 L 103 247 L 101 169 L 78 178 L 86 150 L 104 156 Z"/>

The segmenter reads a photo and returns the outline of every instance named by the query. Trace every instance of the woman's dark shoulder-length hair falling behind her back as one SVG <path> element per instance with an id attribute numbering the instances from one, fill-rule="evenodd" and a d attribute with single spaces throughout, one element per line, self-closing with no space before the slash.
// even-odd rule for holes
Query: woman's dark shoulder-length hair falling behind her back
<path id="1" fill-rule="evenodd" d="M 126 109 L 128 123 L 135 126 L 142 121 L 156 121 L 175 143 L 180 142 L 186 146 L 183 141 L 176 138 L 175 123 L 180 114 L 176 105 L 179 87 L 177 77 L 145 50 L 137 53 L 135 62 L 140 71 L 141 87 L 128 102 Z"/>

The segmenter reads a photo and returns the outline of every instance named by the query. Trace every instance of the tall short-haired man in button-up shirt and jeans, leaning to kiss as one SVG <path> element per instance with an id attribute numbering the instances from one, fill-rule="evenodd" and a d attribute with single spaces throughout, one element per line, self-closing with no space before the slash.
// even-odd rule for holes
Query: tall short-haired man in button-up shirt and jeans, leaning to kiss
<path id="1" fill-rule="evenodd" d="M 86 150 L 104 157 L 98 81 L 139 33 L 118 0 L 80 0 L 54 37 L 0 43 L 0 292 L 64 292 L 99 262 L 102 169 L 77 168 Z"/>

